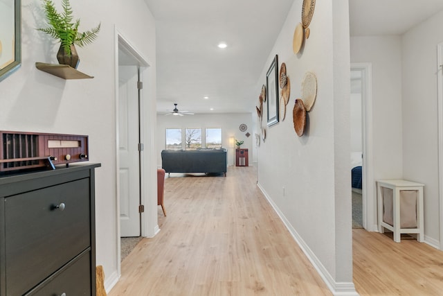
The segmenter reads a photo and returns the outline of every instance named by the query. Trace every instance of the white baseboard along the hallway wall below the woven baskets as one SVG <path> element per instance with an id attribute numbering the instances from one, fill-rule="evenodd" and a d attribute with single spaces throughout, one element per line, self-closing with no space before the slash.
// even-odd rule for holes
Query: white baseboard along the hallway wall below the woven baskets
<path id="1" fill-rule="evenodd" d="M 294 229 L 289 223 L 289 220 L 283 215 L 282 211 L 277 207 L 277 205 L 271 200 L 268 193 L 263 189 L 263 187 L 260 185 L 260 183 L 257 182 L 258 188 L 262 191 L 264 197 L 266 200 L 268 200 L 269 204 L 271 204 L 271 207 L 273 207 L 275 213 L 280 217 L 282 220 L 284 226 L 289 230 L 289 233 L 293 237 L 293 239 L 298 243 L 302 251 L 305 253 L 311 264 L 314 266 L 314 268 L 317 270 L 318 275 L 323 279 L 329 290 L 335 295 L 335 296 L 359 296 L 359 293 L 356 292 L 354 283 L 352 282 L 336 282 L 330 273 L 327 271 L 325 266 L 318 260 L 317 256 L 312 252 L 312 250 L 309 248 L 309 246 L 303 241 L 301 236 L 296 232 L 296 229 Z"/>

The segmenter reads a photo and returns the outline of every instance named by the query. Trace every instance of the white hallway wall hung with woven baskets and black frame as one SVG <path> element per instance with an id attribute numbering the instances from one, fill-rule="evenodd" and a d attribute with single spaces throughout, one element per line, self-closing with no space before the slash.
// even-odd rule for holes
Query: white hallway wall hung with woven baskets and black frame
<path id="1" fill-rule="evenodd" d="M 286 63 L 291 96 L 287 118 L 266 128 L 266 141 L 257 149 L 259 185 L 336 295 L 355 293 L 347 5 L 347 1 L 317 2 L 309 40 L 294 55 L 293 32 L 300 21 L 302 0 L 294 1 L 256 86 L 260 89 L 266 84 L 266 71 L 278 54 L 278 69 Z M 316 73 L 318 93 L 308 113 L 305 135 L 298 137 L 292 109 L 307 71 Z M 266 125 L 266 108 L 262 125 Z M 255 128 L 260 130 L 260 122 Z"/>

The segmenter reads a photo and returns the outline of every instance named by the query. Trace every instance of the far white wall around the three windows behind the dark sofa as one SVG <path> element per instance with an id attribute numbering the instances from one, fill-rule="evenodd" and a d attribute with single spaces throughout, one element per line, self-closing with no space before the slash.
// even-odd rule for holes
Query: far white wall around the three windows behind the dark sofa
<path id="1" fill-rule="evenodd" d="M 240 132 L 239 125 L 246 123 L 248 130 Z M 229 138 L 235 137 L 237 140 L 243 140 L 242 148 L 248 149 L 249 165 L 253 165 L 253 146 L 255 137 L 253 134 L 252 114 L 251 113 L 231 113 L 231 114 L 195 114 L 189 116 L 165 116 L 157 115 L 157 166 L 161 167 L 161 150 L 165 149 L 166 128 L 201 128 L 202 137 L 205 128 L 221 128 L 221 145 L 226 148 L 228 153 L 228 166 L 235 165 L 235 147 L 229 146 Z M 246 132 L 251 134 L 246 137 Z"/>

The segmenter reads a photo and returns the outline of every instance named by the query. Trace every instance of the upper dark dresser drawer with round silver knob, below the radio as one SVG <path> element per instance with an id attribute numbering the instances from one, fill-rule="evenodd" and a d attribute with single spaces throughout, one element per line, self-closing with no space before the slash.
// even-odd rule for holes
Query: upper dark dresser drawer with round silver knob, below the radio
<path id="1" fill-rule="evenodd" d="M 88 178 L 4 199 L 8 295 L 23 295 L 91 245 L 90 207 Z"/>

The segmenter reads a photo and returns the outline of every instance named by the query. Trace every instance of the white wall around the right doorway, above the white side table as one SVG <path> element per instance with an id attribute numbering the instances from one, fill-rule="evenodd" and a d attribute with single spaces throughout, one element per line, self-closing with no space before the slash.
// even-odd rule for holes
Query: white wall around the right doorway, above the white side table
<path id="1" fill-rule="evenodd" d="M 376 180 L 402 177 L 401 38 L 351 37 L 350 44 L 351 62 L 372 63 L 375 187 Z"/>

